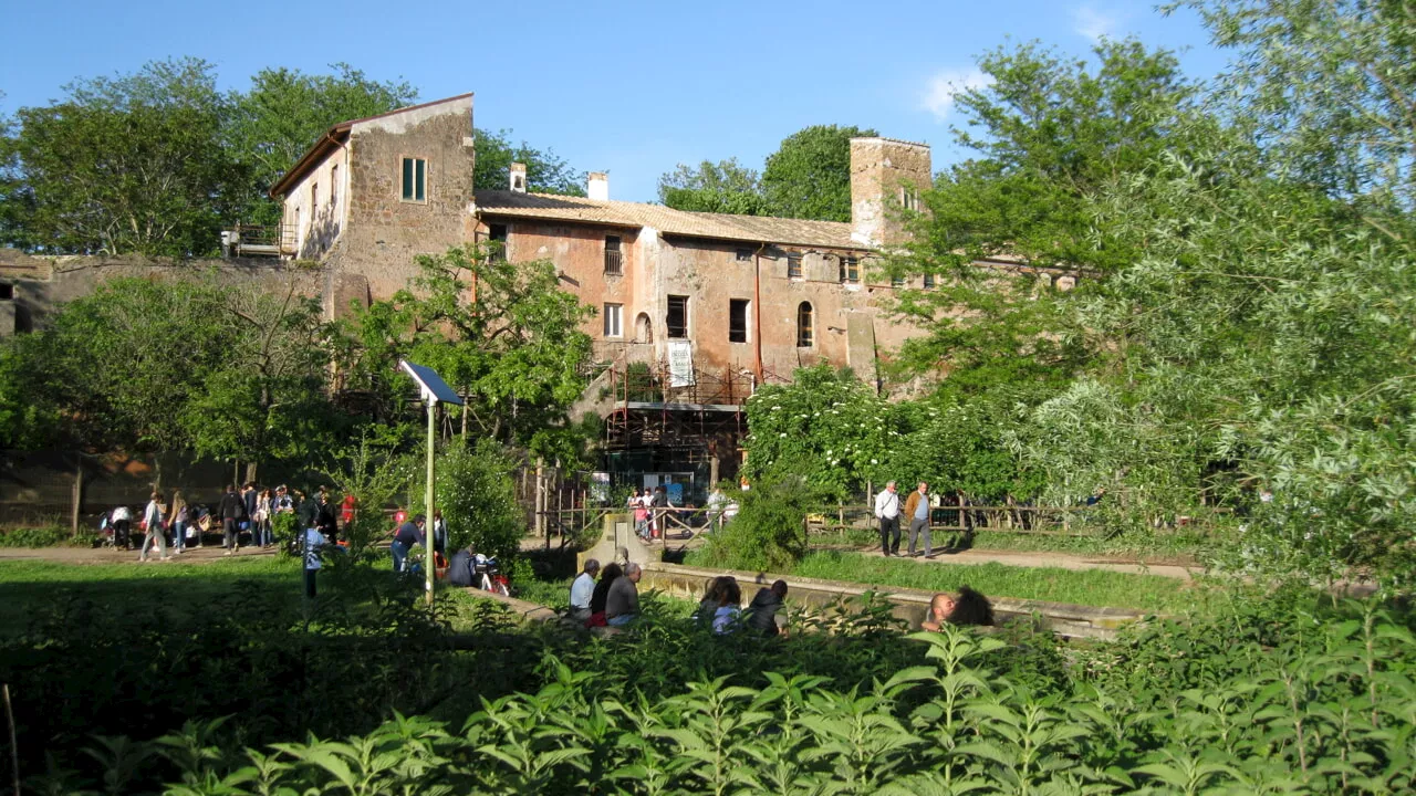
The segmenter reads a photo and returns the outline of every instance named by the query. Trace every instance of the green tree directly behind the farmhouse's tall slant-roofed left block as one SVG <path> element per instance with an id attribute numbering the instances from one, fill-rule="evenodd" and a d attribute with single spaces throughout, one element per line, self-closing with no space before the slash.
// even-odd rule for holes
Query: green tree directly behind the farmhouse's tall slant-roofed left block
<path id="1" fill-rule="evenodd" d="M 418 89 L 406 81 L 374 81 L 343 62 L 330 68 L 334 74 L 309 75 L 285 67 L 261 69 L 251 78 L 251 88 L 232 98 L 227 136 L 232 159 L 245 167 L 248 177 L 242 221 L 279 221 L 280 207 L 266 191 L 330 126 L 418 101 Z"/>

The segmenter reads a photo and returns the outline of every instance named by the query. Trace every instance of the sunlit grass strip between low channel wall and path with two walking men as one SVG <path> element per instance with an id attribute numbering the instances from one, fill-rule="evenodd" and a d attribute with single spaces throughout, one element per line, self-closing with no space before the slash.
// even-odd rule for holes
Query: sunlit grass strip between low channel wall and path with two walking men
<path id="1" fill-rule="evenodd" d="M 694 558 L 690 555 L 685 564 L 694 565 Z M 919 564 L 843 551 L 811 552 L 784 574 L 933 592 L 956 591 L 969 585 L 988 596 L 1134 608 L 1175 615 L 1208 612 L 1214 601 L 1219 599 L 1201 585 L 1163 575 L 1005 564 Z"/>

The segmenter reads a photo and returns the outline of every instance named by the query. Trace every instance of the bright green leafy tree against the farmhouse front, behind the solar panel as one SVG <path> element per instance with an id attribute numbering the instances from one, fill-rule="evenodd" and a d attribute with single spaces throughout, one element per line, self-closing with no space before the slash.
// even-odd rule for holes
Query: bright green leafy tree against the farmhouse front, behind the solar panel
<path id="1" fill-rule="evenodd" d="M 418 258 L 409 289 L 360 312 L 350 387 L 396 404 L 409 358 L 435 368 L 469 402 L 469 429 L 501 443 L 554 450 L 565 409 L 588 384 L 595 309 L 559 288 L 549 261 L 510 263 L 476 246 Z"/>

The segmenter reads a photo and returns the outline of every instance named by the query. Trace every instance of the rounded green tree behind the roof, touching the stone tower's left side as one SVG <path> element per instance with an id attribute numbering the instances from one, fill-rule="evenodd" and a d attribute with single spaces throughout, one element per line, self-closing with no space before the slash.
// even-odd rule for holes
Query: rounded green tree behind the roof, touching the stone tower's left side
<path id="1" fill-rule="evenodd" d="M 770 215 L 851 220 L 851 139 L 875 130 L 816 125 L 792 133 L 767 156 L 762 190 Z"/>

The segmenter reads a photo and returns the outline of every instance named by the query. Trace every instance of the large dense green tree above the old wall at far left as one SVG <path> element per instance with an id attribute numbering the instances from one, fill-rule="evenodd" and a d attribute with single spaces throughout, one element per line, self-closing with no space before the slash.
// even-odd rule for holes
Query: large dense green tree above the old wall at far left
<path id="1" fill-rule="evenodd" d="M 212 67 L 160 61 L 67 91 L 57 105 L 20 109 L 6 147 L 27 200 L 21 241 L 75 254 L 215 251 L 241 169 L 224 146 Z"/>

